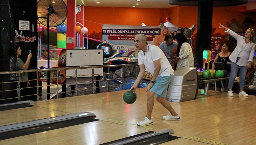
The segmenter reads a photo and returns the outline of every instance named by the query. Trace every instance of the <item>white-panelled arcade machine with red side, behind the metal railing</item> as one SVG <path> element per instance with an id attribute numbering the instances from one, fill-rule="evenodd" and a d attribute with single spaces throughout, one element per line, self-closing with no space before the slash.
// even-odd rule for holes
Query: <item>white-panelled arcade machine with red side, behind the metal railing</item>
<path id="1" fill-rule="evenodd" d="M 97 59 L 95 59 L 97 58 Z M 103 65 L 103 49 L 63 49 L 60 52 L 58 59 L 58 67 L 79 67 L 79 66 L 98 66 Z M 92 75 L 97 74 L 95 76 Z M 77 74 L 77 78 L 75 77 Z M 52 84 L 71 84 L 71 90 L 74 90 L 76 79 L 80 84 L 85 84 L 85 81 L 99 80 L 99 77 L 103 76 L 103 68 L 92 68 L 88 69 L 67 69 L 51 71 Z M 47 82 L 47 71 L 39 72 L 39 81 Z M 93 78 L 94 77 L 94 78 Z M 96 82 L 99 83 L 99 81 Z M 62 85 L 62 91 L 66 91 L 66 85 Z M 99 92 L 99 88 L 96 89 Z M 72 91 L 74 93 L 74 91 Z M 62 94 L 65 97 L 65 93 Z"/>

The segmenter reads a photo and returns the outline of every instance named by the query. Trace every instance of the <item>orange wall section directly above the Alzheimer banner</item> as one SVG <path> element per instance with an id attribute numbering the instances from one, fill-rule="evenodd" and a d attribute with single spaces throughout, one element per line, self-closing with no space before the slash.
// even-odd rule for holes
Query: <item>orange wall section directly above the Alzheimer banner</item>
<path id="1" fill-rule="evenodd" d="M 159 26 L 166 22 L 168 9 L 84 7 L 84 27 L 88 33 L 101 32 L 101 24 Z"/>

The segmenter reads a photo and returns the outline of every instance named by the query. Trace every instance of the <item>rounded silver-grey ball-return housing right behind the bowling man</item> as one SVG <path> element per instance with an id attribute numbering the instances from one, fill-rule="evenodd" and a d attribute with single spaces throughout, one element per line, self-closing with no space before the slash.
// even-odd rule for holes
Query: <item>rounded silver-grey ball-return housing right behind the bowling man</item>
<path id="1" fill-rule="evenodd" d="M 167 101 L 182 102 L 193 100 L 197 96 L 197 70 L 184 66 L 174 71 L 166 94 Z"/>

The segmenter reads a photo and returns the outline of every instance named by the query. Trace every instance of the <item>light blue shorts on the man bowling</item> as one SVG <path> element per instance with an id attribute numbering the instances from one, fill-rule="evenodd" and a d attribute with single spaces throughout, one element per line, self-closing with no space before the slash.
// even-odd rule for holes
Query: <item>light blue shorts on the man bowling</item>
<path id="1" fill-rule="evenodd" d="M 163 76 L 158 77 L 153 85 L 152 88 L 149 90 L 156 93 L 156 97 L 165 97 L 165 94 L 167 92 L 168 86 L 171 83 L 172 75 L 170 76 Z"/>

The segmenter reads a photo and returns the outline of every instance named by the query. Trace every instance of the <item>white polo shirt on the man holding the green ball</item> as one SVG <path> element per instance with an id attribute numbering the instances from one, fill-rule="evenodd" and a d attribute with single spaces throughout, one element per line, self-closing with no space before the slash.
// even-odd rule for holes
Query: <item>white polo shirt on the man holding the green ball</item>
<path id="1" fill-rule="evenodd" d="M 164 52 L 157 46 L 148 44 L 147 50 L 144 52 L 142 50 L 138 53 L 138 63 L 139 65 L 144 64 L 145 69 L 150 72 L 150 74 L 154 74 L 155 65 L 154 61 L 160 59 L 161 62 L 161 69 L 159 71 L 159 76 L 170 76 L 170 74 L 173 74 L 173 69 L 168 61 L 168 59 L 165 57 Z"/>

